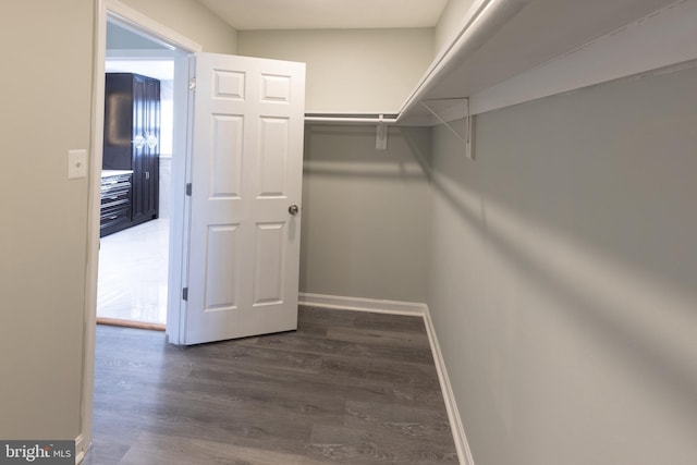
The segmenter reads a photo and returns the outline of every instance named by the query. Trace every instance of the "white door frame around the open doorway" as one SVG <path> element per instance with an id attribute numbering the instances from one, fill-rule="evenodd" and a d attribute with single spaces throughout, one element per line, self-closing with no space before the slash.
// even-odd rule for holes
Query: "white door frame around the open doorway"
<path id="1" fill-rule="evenodd" d="M 87 264 L 85 282 L 85 328 L 82 372 L 82 412 L 80 435 L 75 440 L 76 463 L 80 463 L 91 443 L 94 381 L 95 381 L 95 332 L 97 318 L 97 283 L 99 269 L 99 207 L 101 194 L 101 158 L 103 144 L 105 60 L 107 58 L 107 17 L 114 17 L 136 32 L 156 38 L 162 44 L 184 52 L 198 52 L 203 47 L 117 0 L 97 0 L 95 8 L 95 64 L 93 74 L 91 146 L 89 157 L 89 211 L 87 224 Z M 174 101 L 174 150 L 172 157 L 172 186 L 183 186 L 186 179 L 186 131 L 188 115 L 188 60 L 175 59 Z M 174 189 L 173 189 L 174 191 Z M 181 197 L 181 198 L 180 198 Z M 184 195 L 174 195 L 170 217 L 170 276 L 168 299 L 168 335 L 179 339 L 181 307 L 181 283 L 183 273 Z M 176 246 L 179 244 L 179 247 Z"/>

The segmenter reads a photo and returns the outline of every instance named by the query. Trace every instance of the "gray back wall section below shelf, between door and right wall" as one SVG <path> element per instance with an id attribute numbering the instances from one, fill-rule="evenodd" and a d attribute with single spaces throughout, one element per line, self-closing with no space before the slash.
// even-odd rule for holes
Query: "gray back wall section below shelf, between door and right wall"
<path id="1" fill-rule="evenodd" d="M 426 301 L 430 130 L 307 125 L 301 292 Z"/>

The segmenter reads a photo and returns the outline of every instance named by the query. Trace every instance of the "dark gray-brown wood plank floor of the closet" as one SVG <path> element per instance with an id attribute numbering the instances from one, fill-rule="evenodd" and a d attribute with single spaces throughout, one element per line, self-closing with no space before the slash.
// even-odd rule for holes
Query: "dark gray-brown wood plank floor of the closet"
<path id="1" fill-rule="evenodd" d="M 98 326 L 94 405 L 86 465 L 457 463 L 418 317 L 301 307 L 191 347 Z"/>

